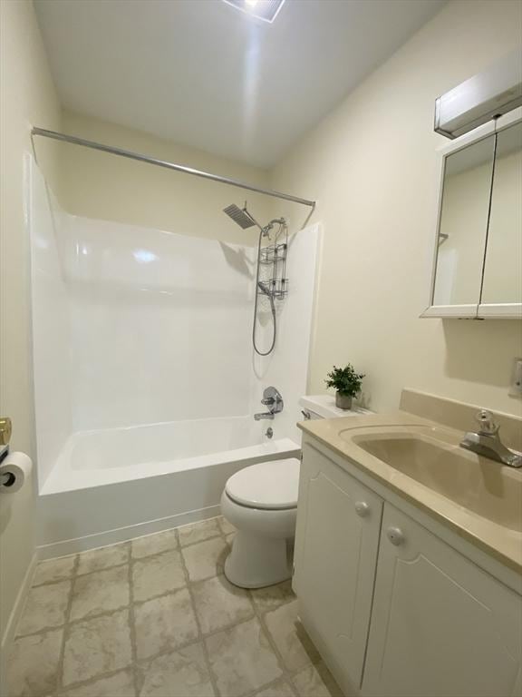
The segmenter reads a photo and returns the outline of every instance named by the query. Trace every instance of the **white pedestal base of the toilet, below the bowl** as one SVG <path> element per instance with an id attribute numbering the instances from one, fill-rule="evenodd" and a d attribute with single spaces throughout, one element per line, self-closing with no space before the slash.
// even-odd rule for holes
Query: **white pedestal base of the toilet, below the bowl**
<path id="1" fill-rule="evenodd" d="M 269 538 L 238 530 L 225 562 L 225 575 L 240 588 L 264 588 L 292 577 L 291 546 L 285 538 Z"/>

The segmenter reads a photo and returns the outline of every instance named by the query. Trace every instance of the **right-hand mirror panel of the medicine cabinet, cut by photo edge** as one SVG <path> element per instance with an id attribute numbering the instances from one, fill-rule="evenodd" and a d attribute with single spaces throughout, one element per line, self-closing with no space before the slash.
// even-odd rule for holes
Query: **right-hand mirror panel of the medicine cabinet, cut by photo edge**
<path id="1" fill-rule="evenodd" d="M 480 302 L 522 302 L 522 123 L 497 136 Z"/>

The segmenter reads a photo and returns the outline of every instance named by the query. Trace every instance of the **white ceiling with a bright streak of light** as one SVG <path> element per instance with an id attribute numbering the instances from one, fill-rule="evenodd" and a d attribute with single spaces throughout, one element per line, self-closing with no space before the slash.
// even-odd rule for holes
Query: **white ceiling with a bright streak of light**
<path id="1" fill-rule="evenodd" d="M 269 167 L 444 0 L 34 0 L 63 105 Z M 81 133 L 78 133 L 81 135 Z"/>

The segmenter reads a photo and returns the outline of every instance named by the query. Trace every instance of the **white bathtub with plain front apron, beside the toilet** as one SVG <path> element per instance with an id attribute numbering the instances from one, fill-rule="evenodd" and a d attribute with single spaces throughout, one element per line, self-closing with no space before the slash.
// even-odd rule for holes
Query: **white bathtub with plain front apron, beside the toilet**
<path id="1" fill-rule="evenodd" d="M 74 433 L 40 489 L 39 557 L 218 515 L 237 470 L 298 456 L 299 445 L 276 431 L 271 421 L 223 417 Z"/>

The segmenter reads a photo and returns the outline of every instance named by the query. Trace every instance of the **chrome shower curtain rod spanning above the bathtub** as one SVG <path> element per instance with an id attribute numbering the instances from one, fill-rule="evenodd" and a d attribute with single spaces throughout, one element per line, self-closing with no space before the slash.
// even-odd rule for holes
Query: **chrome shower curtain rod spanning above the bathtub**
<path id="1" fill-rule="evenodd" d="M 275 199 L 284 199 L 285 201 L 294 201 L 295 203 L 302 203 L 304 206 L 310 206 L 313 209 L 315 207 L 315 201 L 300 199 L 298 196 L 292 196 L 289 193 L 273 191 L 272 189 L 262 189 L 261 187 L 254 186 L 253 184 L 240 182 L 237 179 L 230 179 L 229 177 L 220 177 L 218 174 L 211 174 L 210 172 L 194 170 L 192 167 L 186 167 L 183 164 L 176 164 L 175 162 L 168 162 L 167 160 L 158 160 L 155 157 L 150 157 L 149 155 L 142 155 L 140 154 L 140 152 L 132 152 L 131 150 L 116 148 L 112 145 L 104 145 L 102 142 L 87 141 L 84 138 L 78 138 L 75 135 L 67 135 L 65 133 L 58 133 L 57 131 L 48 131 L 45 128 L 38 128 L 37 126 L 34 126 L 34 128 L 31 131 L 31 134 L 42 135 L 44 138 L 52 138 L 54 141 L 71 142 L 73 143 L 73 145 L 82 145 L 84 148 L 92 148 L 92 150 L 110 152 L 112 155 L 120 155 L 121 157 L 127 157 L 130 160 L 137 160 L 138 162 L 149 162 L 149 164 L 155 164 L 158 167 L 165 167 L 168 170 L 174 170 L 175 172 L 185 172 L 186 174 L 192 174 L 195 177 L 210 179 L 213 182 L 221 182 L 223 184 L 229 184 L 230 186 L 237 186 L 240 189 L 247 189 L 248 191 L 264 193 L 266 194 L 266 196 L 273 196 Z"/>

